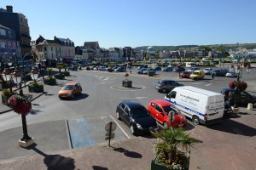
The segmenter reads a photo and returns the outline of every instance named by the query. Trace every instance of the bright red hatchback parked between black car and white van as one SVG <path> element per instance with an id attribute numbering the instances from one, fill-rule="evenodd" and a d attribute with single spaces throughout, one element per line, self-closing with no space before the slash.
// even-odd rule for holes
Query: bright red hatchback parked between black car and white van
<path id="1" fill-rule="evenodd" d="M 184 127 L 188 123 L 185 116 L 178 111 L 177 107 L 166 100 L 154 99 L 150 101 L 148 111 L 164 127 Z M 170 116 L 168 116 L 169 113 L 173 115 L 172 121 Z"/>

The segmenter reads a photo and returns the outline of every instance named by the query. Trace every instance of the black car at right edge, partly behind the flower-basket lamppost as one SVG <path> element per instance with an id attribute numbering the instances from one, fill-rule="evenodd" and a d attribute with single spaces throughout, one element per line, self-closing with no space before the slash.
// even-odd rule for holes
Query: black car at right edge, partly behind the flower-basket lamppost
<path id="1" fill-rule="evenodd" d="M 230 105 L 235 105 L 236 89 L 222 88 L 220 93 L 229 94 Z M 252 103 L 253 107 L 256 108 L 256 96 L 252 94 L 248 94 L 246 91 L 238 92 L 236 104 L 248 105 L 248 103 Z"/>

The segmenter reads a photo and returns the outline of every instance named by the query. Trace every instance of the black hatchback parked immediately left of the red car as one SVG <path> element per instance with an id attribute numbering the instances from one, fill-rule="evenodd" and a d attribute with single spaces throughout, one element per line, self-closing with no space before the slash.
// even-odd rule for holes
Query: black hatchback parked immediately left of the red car
<path id="1" fill-rule="evenodd" d="M 125 100 L 116 108 L 116 117 L 130 127 L 131 134 L 149 132 L 149 127 L 156 127 L 153 116 L 147 109 L 134 100 Z"/>

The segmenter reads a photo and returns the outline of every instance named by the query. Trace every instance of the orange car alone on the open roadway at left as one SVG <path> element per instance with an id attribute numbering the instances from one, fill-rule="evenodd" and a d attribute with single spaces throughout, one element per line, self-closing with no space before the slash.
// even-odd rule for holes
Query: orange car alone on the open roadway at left
<path id="1" fill-rule="evenodd" d="M 74 99 L 75 95 L 82 94 L 82 87 L 79 82 L 68 82 L 59 91 L 60 99 Z"/>

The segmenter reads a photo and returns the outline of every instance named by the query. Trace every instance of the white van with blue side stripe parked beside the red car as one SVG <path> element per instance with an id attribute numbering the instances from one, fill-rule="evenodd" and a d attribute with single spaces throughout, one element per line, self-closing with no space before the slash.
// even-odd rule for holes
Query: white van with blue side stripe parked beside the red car
<path id="1" fill-rule="evenodd" d="M 173 88 L 166 94 L 166 101 L 177 106 L 195 125 L 222 122 L 224 96 L 212 91 L 192 86 Z"/>

